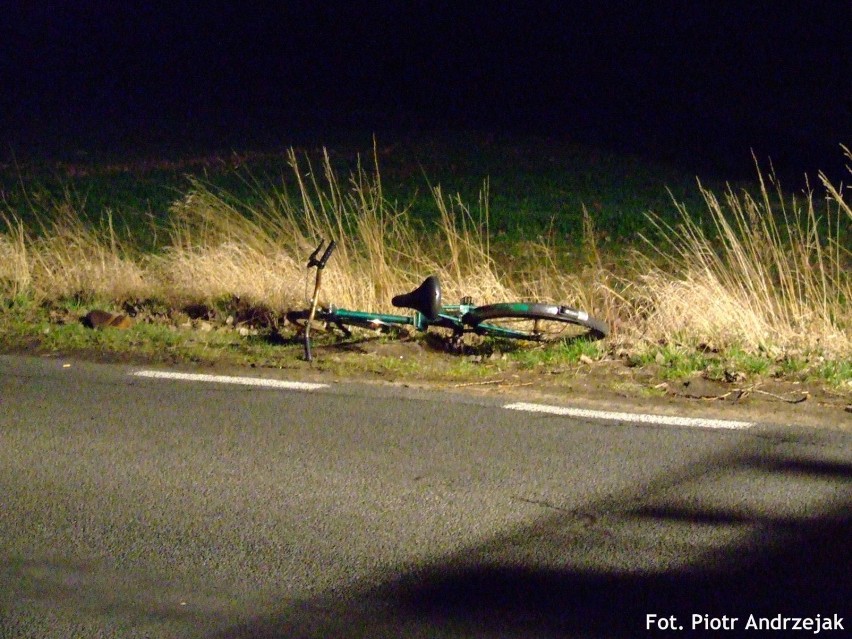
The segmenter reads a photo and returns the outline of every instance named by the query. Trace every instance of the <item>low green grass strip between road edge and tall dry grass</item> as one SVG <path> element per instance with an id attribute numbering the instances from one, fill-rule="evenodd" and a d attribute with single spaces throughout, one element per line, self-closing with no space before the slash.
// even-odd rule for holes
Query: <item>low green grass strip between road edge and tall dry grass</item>
<path id="1" fill-rule="evenodd" d="M 336 337 L 318 334 L 314 339 L 316 360 L 308 364 L 302 359 L 302 343 L 295 338 L 282 343 L 280 339 L 270 339 L 264 331 L 246 337 L 221 323 L 212 325 L 211 330 L 199 330 L 197 324 L 195 328 L 176 326 L 174 322 L 140 322 L 129 330 L 91 330 L 79 322 L 88 308 L 73 301 L 50 306 L 27 298 L 7 301 L 0 310 L 0 349 L 35 349 L 41 353 L 77 353 L 155 363 L 315 370 L 360 379 L 461 386 L 511 380 L 525 385 L 541 372 L 558 373 L 561 383 L 570 383 L 575 377 L 585 376 L 596 362 L 610 358 L 610 349 L 603 342 L 527 346 L 485 340 L 469 346 L 465 354 L 452 354 L 442 352 L 438 340 L 421 335 L 409 340 L 412 348 L 400 354 L 393 348 L 386 352 L 384 347 L 396 343 L 388 337 L 359 336 L 350 342 L 353 347 L 348 347 Z M 57 321 L 57 317 L 61 319 Z M 696 375 L 740 386 L 781 378 L 823 384 L 842 393 L 852 388 L 852 362 L 826 360 L 818 354 L 773 357 L 737 347 L 707 353 L 685 346 L 660 345 L 631 355 L 629 363 L 651 376 L 641 383 L 613 377 L 613 390 L 623 390 L 627 384 L 631 394 L 659 394 L 653 390 L 655 380 L 681 381 Z M 556 377 L 547 379 L 558 381 Z"/>

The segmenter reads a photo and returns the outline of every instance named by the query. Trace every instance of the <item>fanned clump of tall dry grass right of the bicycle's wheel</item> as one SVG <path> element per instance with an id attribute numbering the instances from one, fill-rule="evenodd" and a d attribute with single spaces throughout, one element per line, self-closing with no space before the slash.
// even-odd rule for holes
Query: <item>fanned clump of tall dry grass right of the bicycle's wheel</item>
<path id="1" fill-rule="evenodd" d="M 824 211 L 812 193 L 788 208 L 780 188 L 773 197 L 758 177 L 758 198 L 729 188 L 720 201 L 699 184 L 710 236 L 682 205 L 676 227 L 652 217 L 668 246 L 640 260 L 646 274 L 632 304 L 645 337 L 852 356 L 849 204 L 823 178 Z"/>

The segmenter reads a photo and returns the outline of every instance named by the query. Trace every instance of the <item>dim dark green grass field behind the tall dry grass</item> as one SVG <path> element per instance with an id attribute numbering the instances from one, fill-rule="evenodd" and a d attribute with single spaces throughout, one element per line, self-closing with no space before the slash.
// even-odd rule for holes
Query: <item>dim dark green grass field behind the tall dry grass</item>
<path id="1" fill-rule="evenodd" d="M 577 246 L 584 207 L 594 217 L 602 241 L 616 245 L 632 240 L 638 231 L 649 230 L 644 220 L 648 210 L 673 219 L 669 190 L 678 201 L 700 209 L 694 175 L 591 148 L 538 139 L 494 142 L 473 136 L 409 139 L 385 150 L 382 140 L 377 143 L 385 196 L 400 206 L 410 205 L 412 217 L 424 228 L 438 215 L 430 186 L 440 185 L 445 193 L 476 202 L 486 179 L 491 230 L 507 244 L 551 234 L 560 243 Z M 372 140 L 346 141 L 330 151 L 333 169 L 346 176 L 359 157 L 370 163 Z M 319 168 L 319 151 L 301 149 L 299 154 Z M 189 190 L 189 178 L 229 193 L 246 208 L 273 188 L 296 192 L 284 149 L 244 155 L 243 161 L 235 159 L 239 154 L 222 153 L 160 163 L 112 159 L 105 164 L 85 160 L 26 165 L 0 174 L 0 188 L 9 212 L 27 222 L 49 215 L 55 202 L 68 200 L 90 223 L 110 212 L 120 233 L 149 248 L 171 204 Z"/>

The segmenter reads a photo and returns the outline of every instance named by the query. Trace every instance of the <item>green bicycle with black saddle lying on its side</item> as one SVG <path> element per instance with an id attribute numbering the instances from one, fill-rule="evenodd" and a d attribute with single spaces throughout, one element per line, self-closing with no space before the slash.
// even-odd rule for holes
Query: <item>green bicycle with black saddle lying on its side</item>
<path id="1" fill-rule="evenodd" d="M 436 275 L 427 277 L 410 293 L 397 295 L 391 300 L 397 308 L 414 311 L 412 315 L 352 311 L 335 306 L 318 307 L 322 272 L 336 244 L 333 240 L 329 242 L 320 256 L 324 246 L 325 240 L 321 240 L 308 259 L 308 268 L 316 268 L 310 307 L 287 313 L 287 320 L 302 331 L 305 359 L 308 361 L 312 360 L 310 334 L 314 321 L 338 328 L 345 337 L 352 335 L 350 327 L 390 330 L 410 326 L 418 331 L 439 327 L 451 331 L 450 344 L 454 349 L 461 349 L 467 333 L 533 342 L 597 340 L 609 334 L 605 322 L 591 317 L 585 311 L 559 304 L 502 302 L 476 306 L 470 298 L 462 298 L 459 304 L 444 305 L 441 301 L 441 283 Z"/>

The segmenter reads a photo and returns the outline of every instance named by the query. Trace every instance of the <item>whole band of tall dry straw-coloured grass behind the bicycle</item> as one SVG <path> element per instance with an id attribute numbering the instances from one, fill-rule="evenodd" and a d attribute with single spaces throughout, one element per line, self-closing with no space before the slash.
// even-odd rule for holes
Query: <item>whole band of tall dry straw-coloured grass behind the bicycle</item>
<path id="1" fill-rule="evenodd" d="M 247 203 L 193 182 L 171 209 L 170 242 L 157 255 L 135 253 L 109 223 L 85 226 L 67 202 L 43 212 L 51 222 L 37 234 L 6 220 L 0 296 L 156 297 L 177 306 L 239 296 L 285 310 L 304 303 L 304 262 L 325 238 L 339 248 L 321 301 L 339 306 L 389 310 L 394 294 L 437 273 L 449 302 L 561 301 L 606 319 L 625 341 L 852 357 L 852 210 L 824 177 L 824 210 L 814 194 L 789 201 L 780 188 L 770 192 L 760 172 L 757 197 L 729 189 L 720 200 L 699 184 L 709 232 L 676 204 L 678 224 L 652 218 L 668 245 L 637 254 L 617 274 L 602 266 L 586 214 L 588 260 L 566 273 L 560 247 L 547 238 L 495 258 L 487 184 L 474 209 L 433 188 L 438 221 L 422 229 L 385 197 L 377 165 L 359 164 L 342 182 L 328 154 L 319 170 L 293 151 L 289 163 L 295 195 L 264 190 Z"/>

